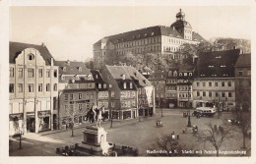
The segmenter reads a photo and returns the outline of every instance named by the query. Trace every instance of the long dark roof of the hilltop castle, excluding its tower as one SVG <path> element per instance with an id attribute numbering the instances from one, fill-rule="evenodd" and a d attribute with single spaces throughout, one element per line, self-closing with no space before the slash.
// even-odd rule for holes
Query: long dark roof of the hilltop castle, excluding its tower
<path id="1" fill-rule="evenodd" d="M 139 40 L 139 39 L 160 36 L 160 35 L 183 38 L 182 35 L 176 29 L 173 29 L 173 27 L 156 26 L 156 27 L 145 27 L 137 30 L 127 31 L 124 33 L 110 35 L 110 36 L 104 37 L 103 39 L 116 44 L 119 42 Z M 192 37 L 193 39 L 195 37 L 197 41 L 201 41 L 201 40 L 205 41 L 205 39 L 200 34 L 195 32 L 193 32 Z M 100 43 L 100 41 L 101 40 L 98 40 L 95 44 Z"/>

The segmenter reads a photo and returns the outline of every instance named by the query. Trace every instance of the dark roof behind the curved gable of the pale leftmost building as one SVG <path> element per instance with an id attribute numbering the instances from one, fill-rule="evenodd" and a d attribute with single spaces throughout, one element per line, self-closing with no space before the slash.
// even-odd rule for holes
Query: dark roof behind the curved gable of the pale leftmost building
<path id="1" fill-rule="evenodd" d="M 34 48 L 38 50 L 40 52 L 40 55 L 45 61 L 45 65 L 50 65 L 51 58 L 53 57 L 46 46 L 21 43 L 21 42 L 12 42 L 12 41 L 9 42 L 9 63 L 15 63 L 15 59 L 26 48 Z M 53 62 L 55 65 L 54 58 L 53 58 Z"/>

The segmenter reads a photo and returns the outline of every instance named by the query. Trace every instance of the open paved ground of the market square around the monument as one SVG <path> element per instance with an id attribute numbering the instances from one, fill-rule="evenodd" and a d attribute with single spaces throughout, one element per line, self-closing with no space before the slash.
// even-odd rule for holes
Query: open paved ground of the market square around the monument
<path id="1" fill-rule="evenodd" d="M 102 123 L 102 127 L 107 134 L 108 142 L 121 143 L 131 145 L 139 148 L 140 155 L 147 155 L 146 150 L 156 142 L 158 137 L 163 134 L 170 134 L 175 132 L 179 134 L 180 142 L 185 143 L 188 147 L 195 147 L 195 149 L 209 149 L 214 150 L 210 143 L 203 143 L 197 141 L 193 134 L 182 134 L 182 130 L 187 125 L 187 118 L 182 117 L 182 113 L 186 110 L 182 109 L 164 109 L 163 117 L 160 117 L 160 110 L 157 111 L 156 116 L 143 118 L 141 122 L 138 119 L 128 120 L 124 122 L 113 122 L 113 128 L 110 129 L 110 123 Z M 231 113 L 223 113 L 222 118 L 230 118 Z M 156 121 L 161 120 L 163 127 L 158 128 Z M 206 123 L 220 122 L 217 116 L 214 118 L 201 118 L 196 119 L 191 117 L 192 125 L 197 125 L 199 131 L 205 129 Z M 10 141 L 10 155 L 11 156 L 52 156 L 56 155 L 56 147 L 63 147 L 65 145 L 74 145 L 81 142 L 83 139 L 83 127 L 74 130 L 75 137 L 71 137 L 71 131 L 60 131 L 58 133 L 45 132 L 41 134 L 28 134 L 23 139 L 23 149 L 18 149 L 19 141 Z M 223 143 L 222 150 L 241 150 L 242 146 L 241 134 L 235 133 L 231 140 Z M 246 138 L 247 147 L 250 147 L 250 139 Z M 250 154 L 250 152 L 247 152 Z"/>

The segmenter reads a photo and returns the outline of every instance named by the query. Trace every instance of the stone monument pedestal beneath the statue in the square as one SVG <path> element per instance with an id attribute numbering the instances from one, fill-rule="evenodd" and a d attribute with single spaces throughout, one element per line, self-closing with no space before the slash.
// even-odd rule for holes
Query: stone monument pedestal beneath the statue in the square
<path id="1" fill-rule="evenodd" d="M 84 140 L 76 144 L 76 151 L 83 155 L 102 156 L 109 152 L 111 147 L 106 141 L 106 132 L 103 128 L 87 126 L 83 132 Z"/>

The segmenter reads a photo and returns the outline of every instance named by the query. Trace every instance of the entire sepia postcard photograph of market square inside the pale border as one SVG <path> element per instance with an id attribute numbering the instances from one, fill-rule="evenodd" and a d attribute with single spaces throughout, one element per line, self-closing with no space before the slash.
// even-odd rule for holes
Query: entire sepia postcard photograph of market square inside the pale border
<path id="1" fill-rule="evenodd" d="M 250 6 L 10 6 L 9 158 L 251 158 L 252 23 Z"/>

